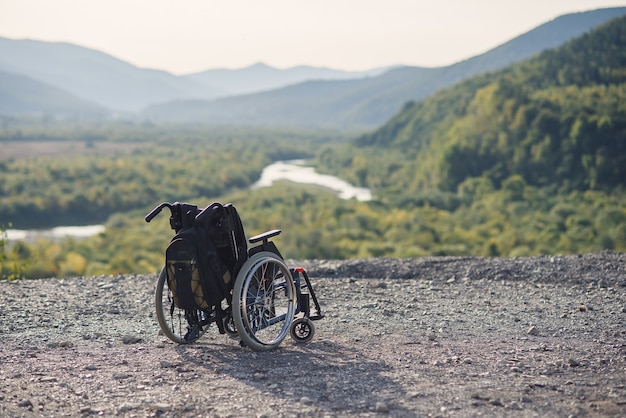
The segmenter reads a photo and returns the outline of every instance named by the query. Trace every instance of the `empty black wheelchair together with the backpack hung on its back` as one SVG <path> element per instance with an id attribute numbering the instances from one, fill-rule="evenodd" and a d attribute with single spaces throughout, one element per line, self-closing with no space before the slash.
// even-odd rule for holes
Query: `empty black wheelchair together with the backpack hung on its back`
<path id="1" fill-rule="evenodd" d="M 146 222 L 163 208 L 171 212 L 176 235 L 159 274 L 155 305 L 169 339 L 191 343 L 212 323 L 255 351 L 276 348 L 287 334 L 299 343 L 313 338 L 312 321 L 323 318 L 320 304 L 306 271 L 288 267 L 271 241 L 280 230 L 246 241 L 236 209 L 217 202 L 202 210 L 164 202 Z"/>

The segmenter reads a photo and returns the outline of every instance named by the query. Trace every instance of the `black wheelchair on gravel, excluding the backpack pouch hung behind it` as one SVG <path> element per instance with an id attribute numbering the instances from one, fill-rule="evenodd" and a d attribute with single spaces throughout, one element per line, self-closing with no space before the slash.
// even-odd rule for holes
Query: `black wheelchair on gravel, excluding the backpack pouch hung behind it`
<path id="1" fill-rule="evenodd" d="M 219 302 L 181 309 L 175 303 L 164 267 L 157 281 L 155 307 L 157 322 L 165 336 L 175 343 L 189 344 L 215 323 L 221 334 L 238 336 L 242 347 L 254 351 L 278 347 L 287 334 L 296 343 L 311 341 L 315 334 L 313 321 L 324 315 L 306 271 L 288 267 L 271 240 L 281 230 L 267 231 L 246 242 L 235 208 L 219 202 L 202 210 L 189 203 L 164 202 L 146 215 L 146 222 L 164 208 L 170 210 L 170 227 L 176 234 L 194 226 L 206 231 L 229 276 L 234 278 Z"/>

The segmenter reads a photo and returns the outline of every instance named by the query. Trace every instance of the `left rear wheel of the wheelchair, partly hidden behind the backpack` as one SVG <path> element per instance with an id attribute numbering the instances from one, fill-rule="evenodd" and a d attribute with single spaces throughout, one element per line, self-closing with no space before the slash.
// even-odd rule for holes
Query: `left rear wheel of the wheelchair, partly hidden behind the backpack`
<path id="1" fill-rule="evenodd" d="M 172 292 L 167 284 L 165 268 L 159 274 L 154 302 L 161 331 L 175 343 L 192 343 L 209 328 L 207 312 L 198 309 L 178 309 L 174 305 Z"/>

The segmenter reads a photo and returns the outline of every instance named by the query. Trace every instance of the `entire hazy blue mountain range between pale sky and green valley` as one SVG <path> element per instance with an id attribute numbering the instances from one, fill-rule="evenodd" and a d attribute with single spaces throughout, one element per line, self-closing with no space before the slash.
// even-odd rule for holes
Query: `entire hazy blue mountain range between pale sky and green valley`
<path id="1" fill-rule="evenodd" d="M 345 72 L 256 64 L 176 76 L 66 43 L 0 38 L 0 115 L 125 117 L 371 129 L 411 100 L 554 48 L 626 7 L 561 16 L 485 54 L 439 68 Z"/>

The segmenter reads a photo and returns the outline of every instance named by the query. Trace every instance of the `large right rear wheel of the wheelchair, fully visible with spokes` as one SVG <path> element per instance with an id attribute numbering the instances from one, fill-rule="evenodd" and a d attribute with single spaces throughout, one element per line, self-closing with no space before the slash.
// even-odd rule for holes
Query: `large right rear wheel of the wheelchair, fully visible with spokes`
<path id="1" fill-rule="evenodd" d="M 295 306 L 293 277 L 276 254 L 259 252 L 241 267 L 233 288 L 233 319 L 248 347 L 276 348 L 289 332 Z"/>

